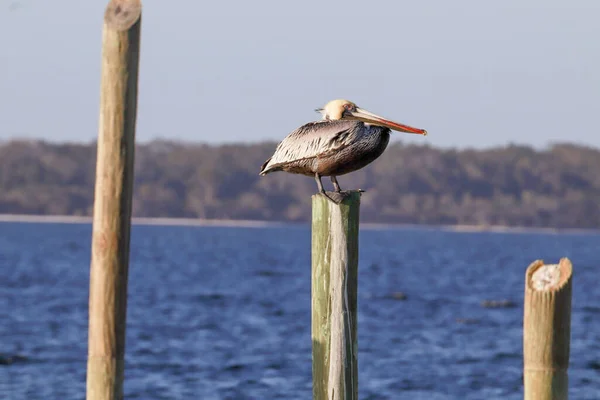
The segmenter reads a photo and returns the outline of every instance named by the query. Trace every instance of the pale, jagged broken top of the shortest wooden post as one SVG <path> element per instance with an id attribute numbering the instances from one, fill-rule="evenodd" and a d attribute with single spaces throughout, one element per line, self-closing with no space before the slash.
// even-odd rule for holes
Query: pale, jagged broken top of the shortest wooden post
<path id="1" fill-rule="evenodd" d="M 566 257 L 558 264 L 544 264 L 542 260 L 536 260 L 527 268 L 527 288 L 536 292 L 560 290 L 572 273 L 573 266 Z"/>

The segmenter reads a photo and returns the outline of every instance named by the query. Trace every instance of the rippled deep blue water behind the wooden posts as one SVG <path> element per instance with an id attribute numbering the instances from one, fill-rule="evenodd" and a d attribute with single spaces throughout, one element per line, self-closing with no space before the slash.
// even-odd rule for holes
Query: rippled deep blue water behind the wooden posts
<path id="1" fill-rule="evenodd" d="M 90 238 L 0 223 L 2 399 L 84 399 Z M 564 256 L 570 395 L 600 399 L 600 235 L 417 229 L 361 230 L 360 398 L 521 399 L 525 269 Z M 127 399 L 309 399 L 311 379 L 307 226 L 133 227 Z"/>

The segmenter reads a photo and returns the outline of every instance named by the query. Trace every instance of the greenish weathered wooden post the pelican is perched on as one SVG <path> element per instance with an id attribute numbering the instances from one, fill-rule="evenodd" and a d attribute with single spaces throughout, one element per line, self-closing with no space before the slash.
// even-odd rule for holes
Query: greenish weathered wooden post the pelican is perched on
<path id="1" fill-rule="evenodd" d="M 360 192 L 340 204 L 313 198 L 313 399 L 358 399 L 358 226 Z"/>

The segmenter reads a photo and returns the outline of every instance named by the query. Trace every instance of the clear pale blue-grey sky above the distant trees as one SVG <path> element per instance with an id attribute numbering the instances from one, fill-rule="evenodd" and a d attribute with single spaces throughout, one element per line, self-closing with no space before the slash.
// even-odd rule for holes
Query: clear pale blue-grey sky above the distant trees
<path id="1" fill-rule="evenodd" d="M 0 0 L 0 141 L 98 135 L 108 1 Z M 346 98 L 435 147 L 600 147 L 600 1 L 143 1 L 136 139 L 281 140 Z"/>

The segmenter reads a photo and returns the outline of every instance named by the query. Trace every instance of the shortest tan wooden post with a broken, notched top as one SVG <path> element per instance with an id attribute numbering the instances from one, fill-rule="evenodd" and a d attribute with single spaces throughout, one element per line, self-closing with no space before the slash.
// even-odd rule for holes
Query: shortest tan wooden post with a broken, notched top
<path id="1" fill-rule="evenodd" d="M 568 399 L 571 276 L 568 258 L 534 261 L 525 275 L 523 320 L 525 400 Z"/>

